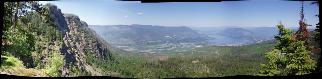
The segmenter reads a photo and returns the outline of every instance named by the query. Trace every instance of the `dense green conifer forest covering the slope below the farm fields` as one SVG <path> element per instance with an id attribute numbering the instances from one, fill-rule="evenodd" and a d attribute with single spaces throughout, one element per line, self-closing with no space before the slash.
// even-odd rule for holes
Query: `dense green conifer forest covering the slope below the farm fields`
<path id="1" fill-rule="evenodd" d="M 267 62 L 265 51 L 277 44 L 250 45 L 246 47 L 202 47 L 203 51 L 224 51 L 228 54 L 220 56 L 169 56 L 166 60 L 156 61 L 153 56 L 139 57 L 139 54 L 115 56 L 115 60 L 101 65 L 99 62 L 87 61 L 99 67 L 102 71 L 114 71 L 126 78 L 177 78 L 177 77 L 219 77 L 232 75 L 254 75 L 262 67 L 258 63 Z M 245 48 L 258 48 L 249 51 Z M 215 49 L 215 50 L 213 50 Z M 88 50 L 89 51 L 89 50 Z M 230 55 L 230 53 L 232 53 Z M 191 53 L 190 53 L 191 54 Z M 93 55 L 86 55 L 92 57 Z M 197 63 L 192 61 L 199 60 Z M 209 73 L 207 70 L 209 68 Z M 234 72 L 234 73 L 232 73 Z M 102 73 L 103 75 L 109 75 Z M 111 75 L 113 76 L 113 75 Z M 114 74 L 115 76 L 115 74 Z"/>

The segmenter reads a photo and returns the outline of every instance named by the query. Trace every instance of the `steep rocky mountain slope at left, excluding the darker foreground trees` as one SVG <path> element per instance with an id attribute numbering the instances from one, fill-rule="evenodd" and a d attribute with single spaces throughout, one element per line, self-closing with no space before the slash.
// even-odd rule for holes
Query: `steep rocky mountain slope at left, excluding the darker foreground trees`
<path id="1" fill-rule="evenodd" d="M 106 43 L 95 31 L 90 30 L 87 23 L 81 21 L 78 16 L 64 14 L 54 4 L 46 4 L 43 7 L 52 13 L 54 25 L 44 22 L 43 17 L 34 11 L 26 14 L 30 26 L 24 27 L 23 24 L 17 26 L 18 29 L 26 28 L 27 31 L 32 32 L 35 39 L 34 49 L 31 51 L 32 57 L 19 58 L 23 67 L 30 68 L 20 69 L 26 71 L 27 75 L 28 73 L 38 73 L 39 76 L 42 76 L 40 70 L 50 74 L 44 76 L 53 75 L 55 77 L 97 75 L 102 72 L 89 73 L 91 68 L 88 66 L 99 66 L 98 64 L 102 63 L 107 66 L 108 62 L 114 60 L 113 55 L 122 54 L 116 53 L 122 50 L 113 48 Z M 20 56 L 15 54 L 17 48 L 13 48 L 12 45 L 5 44 L 3 46 L 5 47 L 4 51 L 10 53 L 9 56 Z M 111 50 L 115 51 L 111 52 Z M 28 70 L 33 71 L 29 72 Z M 106 75 L 106 73 L 102 74 Z"/>

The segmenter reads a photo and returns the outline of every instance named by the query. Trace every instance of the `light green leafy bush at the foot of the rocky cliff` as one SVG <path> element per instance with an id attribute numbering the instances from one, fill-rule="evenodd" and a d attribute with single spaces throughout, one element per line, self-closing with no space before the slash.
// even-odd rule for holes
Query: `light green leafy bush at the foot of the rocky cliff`
<path id="1" fill-rule="evenodd" d="M 48 72 L 54 76 L 60 77 L 62 73 L 59 73 L 59 69 L 64 65 L 65 60 L 58 56 L 57 52 L 53 52 L 51 57 L 46 60 L 46 67 L 43 72 Z"/>

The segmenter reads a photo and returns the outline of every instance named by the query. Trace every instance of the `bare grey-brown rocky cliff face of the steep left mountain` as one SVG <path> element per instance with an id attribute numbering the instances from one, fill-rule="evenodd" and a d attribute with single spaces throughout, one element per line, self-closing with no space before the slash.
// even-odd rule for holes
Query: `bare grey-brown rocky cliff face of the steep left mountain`
<path id="1" fill-rule="evenodd" d="M 66 60 L 63 68 L 59 70 L 62 76 L 76 76 L 75 72 L 71 72 L 70 68 L 78 68 L 83 73 L 87 73 L 85 67 L 85 57 L 88 54 L 92 54 L 94 58 L 98 60 L 112 60 L 112 54 L 109 48 L 102 43 L 96 35 L 95 31 L 90 30 L 86 22 L 79 19 L 78 16 L 73 14 L 63 14 L 60 9 L 54 5 L 46 4 L 46 7 L 51 16 L 55 19 L 56 30 L 62 32 L 62 39 L 55 40 L 53 43 L 42 41 L 44 36 L 36 36 L 39 38 L 38 42 L 40 47 L 46 48 L 41 51 L 39 61 L 45 66 L 46 60 L 49 59 L 52 52 L 58 52 L 58 54 Z M 37 57 L 34 57 L 34 59 Z M 70 75 L 72 74 L 73 75 Z"/>

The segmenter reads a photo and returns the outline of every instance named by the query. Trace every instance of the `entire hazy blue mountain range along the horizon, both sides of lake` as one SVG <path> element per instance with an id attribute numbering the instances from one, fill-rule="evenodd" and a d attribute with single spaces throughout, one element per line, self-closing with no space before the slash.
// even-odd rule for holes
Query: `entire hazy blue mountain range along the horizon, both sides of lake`
<path id="1" fill-rule="evenodd" d="M 110 44 L 162 44 L 166 42 L 204 42 L 211 38 L 206 35 L 223 36 L 273 36 L 278 34 L 276 27 L 186 27 L 152 25 L 88 25 L 90 29 Z M 298 27 L 288 27 L 297 30 Z M 313 28 L 313 27 L 310 27 Z M 314 29 L 308 29 L 313 31 Z"/>

